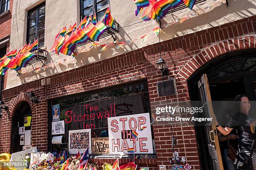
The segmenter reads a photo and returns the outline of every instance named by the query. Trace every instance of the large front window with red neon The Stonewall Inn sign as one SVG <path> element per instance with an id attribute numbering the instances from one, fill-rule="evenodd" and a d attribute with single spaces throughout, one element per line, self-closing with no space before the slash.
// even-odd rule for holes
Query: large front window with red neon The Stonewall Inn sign
<path id="1" fill-rule="evenodd" d="M 73 142 L 76 146 L 79 145 L 78 147 L 81 145 L 82 148 L 86 145 L 69 138 L 70 131 L 91 129 L 92 139 L 105 140 L 105 138 L 109 137 L 108 117 L 151 112 L 146 81 L 114 87 L 109 90 L 98 90 L 98 92 L 69 97 L 67 99 L 55 99 L 50 102 L 50 105 L 49 117 L 51 118 L 49 118 L 49 126 L 52 126 L 52 130 L 56 126 L 51 122 L 64 122 L 64 134 L 61 134 L 61 144 L 52 144 L 52 153 L 59 153 L 63 148 L 68 148 L 69 143 Z M 151 132 L 151 134 L 153 138 L 153 133 Z M 51 134 L 51 139 L 57 136 L 60 135 Z M 92 154 L 95 154 L 94 151 L 92 151 Z"/>

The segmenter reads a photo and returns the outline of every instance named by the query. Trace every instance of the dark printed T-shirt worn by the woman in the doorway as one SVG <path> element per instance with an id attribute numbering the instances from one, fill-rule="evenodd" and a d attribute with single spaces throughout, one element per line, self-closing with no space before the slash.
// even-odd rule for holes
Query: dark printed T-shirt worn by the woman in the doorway
<path id="1" fill-rule="evenodd" d="M 239 150 L 243 150 L 245 153 L 251 153 L 251 145 L 254 138 L 255 119 L 238 112 L 230 117 L 227 127 L 237 130 Z M 254 152 L 256 152 L 256 148 L 254 148 Z"/>

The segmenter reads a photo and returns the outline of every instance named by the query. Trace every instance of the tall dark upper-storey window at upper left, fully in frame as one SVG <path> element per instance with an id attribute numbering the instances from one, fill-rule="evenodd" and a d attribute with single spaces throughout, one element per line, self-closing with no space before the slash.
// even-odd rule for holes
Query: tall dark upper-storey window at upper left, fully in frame
<path id="1" fill-rule="evenodd" d="M 38 46 L 44 46 L 45 4 L 28 11 L 27 43 L 38 39 Z"/>

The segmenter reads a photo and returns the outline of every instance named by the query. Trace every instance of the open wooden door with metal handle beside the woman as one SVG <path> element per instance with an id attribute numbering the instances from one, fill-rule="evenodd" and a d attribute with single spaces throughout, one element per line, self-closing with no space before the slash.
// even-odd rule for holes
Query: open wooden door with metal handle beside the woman
<path id="1" fill-rule="evenodd" d="M 200 92 L 200 97 L 202 104 L 205 108 L 205 115 L 212 117 L 214 120 L 214 113 L 211 103 L 211 95 L 209 84 L 207 80 L 207 75 L 202 75 L 201 79 L 198 81 L 198 89 Z M 208 145 L 208 150 L 211 157 L 211 164 L 209 167 L 212 167 L 212 170 L 223 170 L 223 164 L 220 154 L 220 146 L 218 140 L 218 134 L 215 126 L 215 121 L 211 121 L 209 124 L 204 126 L 206 141 Z"/>

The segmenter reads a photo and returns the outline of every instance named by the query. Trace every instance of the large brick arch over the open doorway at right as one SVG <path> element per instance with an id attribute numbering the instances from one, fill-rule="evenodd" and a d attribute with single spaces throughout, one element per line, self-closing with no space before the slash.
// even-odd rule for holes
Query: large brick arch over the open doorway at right
<path id="1" fill-rule="evenodd" d="M 256 35 L 245 35 L 238 38 L 217 42 L 203 49 L 192 57 L 177 73 L 181 80 L 187 80 L 197 69 L 208 61 L 235 50 L 244 50 L 256 47 Z"/>

